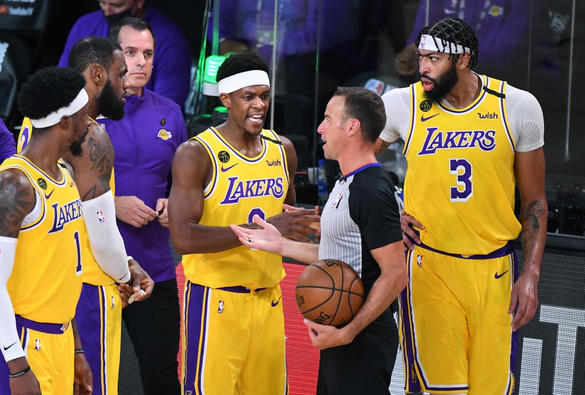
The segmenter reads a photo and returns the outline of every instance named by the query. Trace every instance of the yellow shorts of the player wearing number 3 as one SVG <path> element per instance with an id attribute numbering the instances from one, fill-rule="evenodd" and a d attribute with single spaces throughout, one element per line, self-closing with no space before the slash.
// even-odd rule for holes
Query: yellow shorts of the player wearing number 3
<path id="1" fill-rule="evenodd" d="M 415 246 L 407 269 L 400 294 L 405 390 L 511 394 L 518 345 L 508 314 L 518 276 L 511 244 L 468 258 Z"/>

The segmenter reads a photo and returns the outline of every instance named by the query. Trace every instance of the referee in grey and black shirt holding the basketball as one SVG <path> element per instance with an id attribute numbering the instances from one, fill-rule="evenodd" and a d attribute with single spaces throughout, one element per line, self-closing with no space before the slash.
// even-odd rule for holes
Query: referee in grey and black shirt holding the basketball
<path id="1" fill-rule="evenodd" d="M 345 176 L 335 184 L 321 217 L 321 243 L 284 239 L 260 217 L 262 229 L 232 225 L 240 242 L 301 262 L 339 259 L 362 278 L 366 300 L 352 321 L 338 329 L 305 320 L 321 349 L 318 395 L 388 394 L 398 348 L 391 303 L 408 282 L 400 212 L 388 173 L 374 156 L 386 115 L 380 97 L 365 88 L 338 88 L 317 131 L 325 157 Z"/>

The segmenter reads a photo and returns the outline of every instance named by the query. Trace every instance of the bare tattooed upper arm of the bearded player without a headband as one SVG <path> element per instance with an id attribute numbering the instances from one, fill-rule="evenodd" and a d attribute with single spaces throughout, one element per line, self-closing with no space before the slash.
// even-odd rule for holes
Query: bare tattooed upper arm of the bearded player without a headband
<path id="1" fill-rule="evenodd" d="M 68 152 L 63 157 L 73 167 L 81 201 L 92 200 L 108 192 L 113 169 L 113 146 L 108 133 L 95 124 L 89 129 L 81 146 L 81 156 Z"/>

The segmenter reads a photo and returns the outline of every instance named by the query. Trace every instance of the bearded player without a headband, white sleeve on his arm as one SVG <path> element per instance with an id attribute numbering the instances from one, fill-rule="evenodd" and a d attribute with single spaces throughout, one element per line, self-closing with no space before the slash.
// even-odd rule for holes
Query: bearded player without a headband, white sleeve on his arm
<path id="1" fill-rule="evenodd" d="M 73 168 L 88 235 L 81 239 L 84 276 L 76 317 L 95 379 L 94 394 L 117 394 L 122 307 L 128 303 L 128 296 L 140 287 L 146 295 L 136 297 L 136 301 L 149 297 L 153 288 L 148 274 L 126 255 L 116 226 L 112 143 L 95 122 L 100 114 L 123 118 L 122 95 L 128 87 L 125 77 L 128 69 L 121 48 L 104 37 L 87 37 L 77 42 L 71 49 L 69 65 L 85 77 L 88 114 L 92 120 L 82 155 L 63 156 Z M 32 141 L 32 132 L 25 119 L 19 145 Z M 121 293 L 117 287 L 125 287 L 125 291 Z"/>

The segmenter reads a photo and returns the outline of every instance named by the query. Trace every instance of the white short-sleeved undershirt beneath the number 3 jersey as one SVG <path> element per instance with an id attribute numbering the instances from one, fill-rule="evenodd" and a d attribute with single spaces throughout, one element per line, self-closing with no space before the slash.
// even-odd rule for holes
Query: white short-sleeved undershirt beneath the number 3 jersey
<path id="1" fill-rule="evenodd" d="M 479 77 L 481 84 L 485 84 L 483 75 Z M 505 94 L 506 115 L 516 150 L 526 152 L 542 147 L 545 126 L 541 105 L 530 92 L 510 85 L 507 85 Z M 390 143 L 398 138 L 405 140 L 410 125 L 410 87 L 391 90 L 382 95 L 382 100 L 386 108 L 386 126 L 380 138 Z M 441 104 L 454 108 L 445 99 Z"/>

